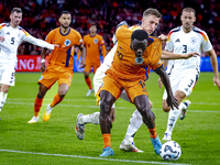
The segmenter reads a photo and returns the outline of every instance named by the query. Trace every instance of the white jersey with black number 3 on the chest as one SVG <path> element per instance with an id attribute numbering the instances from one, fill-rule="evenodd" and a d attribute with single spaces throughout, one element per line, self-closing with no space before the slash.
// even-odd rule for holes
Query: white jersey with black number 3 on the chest
<path id="1" fill-rule="evenodd" d="M 201 48 L 204 52 L 209 52 L 212 45 L 209 37 L 205 31 L 194 26 L 191 32 L 185 33 L 183 26 L 173 29 L 168 34 L 168 41 L 166 43 L 165 50 L 168 52 L 177 54 L 188 54 L 191 52 L 197 52 L 201 54 Z M 200 57 L 190 57 L 188 59 L 174 59 L 172 73 L 183 73 L 186 69 L 199 70 Z"/>

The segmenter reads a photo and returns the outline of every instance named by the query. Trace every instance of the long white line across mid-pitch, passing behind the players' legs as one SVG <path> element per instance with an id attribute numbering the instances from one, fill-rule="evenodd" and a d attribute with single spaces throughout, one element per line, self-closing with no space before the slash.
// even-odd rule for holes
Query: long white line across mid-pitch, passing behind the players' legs
<path id="1" fill-rule="evenodd" d="M 6 102 L 6 103 L 12 103 L 12 105 L 34 105 L 33 103 L 26 103 L 26 102 Z M 47 106 L 48 103 L 43 103 L 43 106 Z M 99 106 L 78 106 L 78 105 L 57 105 L 57 106 L 62 106 L 62 107 L 79 107 L 79 108 L 96 108 L 96 109 L 99 109 Z M 117 109 L 133 109 L 135 110 L 135 108 L 132 108 L 132 107 L 117 107 Z M 152 109 L 153 111 L 155 110 L 161 110 L 163 111 L 162 109 L 156 109 L 156 108 L 153 108 Z M 209 113 L 220 113 L 220 111 L 212 111 L 212 110 L 188 110 L 188 112 L 202 112 L 202 113 L 206 113 L 206 112 L 209 112 Z"/>

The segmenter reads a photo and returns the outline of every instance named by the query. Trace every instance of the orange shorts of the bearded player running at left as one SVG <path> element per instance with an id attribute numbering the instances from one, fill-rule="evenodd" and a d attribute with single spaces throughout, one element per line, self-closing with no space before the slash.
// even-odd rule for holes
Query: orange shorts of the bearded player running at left
<path id="1" fill-rule="evenodd" d="M 40 77 L 38 84 L 50 89 L 58 80 L 58 85 L 67 84 L 70 87 L 73 75 L 73 70 L 65 69 L 64 66 L 47 67 Z"/>

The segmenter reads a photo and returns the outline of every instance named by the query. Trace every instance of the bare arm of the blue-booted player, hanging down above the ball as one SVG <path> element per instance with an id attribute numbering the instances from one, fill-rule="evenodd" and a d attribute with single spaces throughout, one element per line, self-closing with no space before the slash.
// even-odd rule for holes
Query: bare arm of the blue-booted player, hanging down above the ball
<path id="1" fill-rule="evenodd" d="M 157 75 L 160 75 L 164 87 L 166 88 L 166 92 L 167 92 L 167 99 L 166 102 L 167 105 L 174 109 L 174 106 L 178 109 L 178 102 L 177 99 L 174 97 L 173 91 L 172 91 L 172 87 L 170 87 L 170 82 L 169 82 L 169 78 L 168 75 L 166 74 L 165 69 L 163 66 L 158 67 L 157 69 L 154 70 Z"/>

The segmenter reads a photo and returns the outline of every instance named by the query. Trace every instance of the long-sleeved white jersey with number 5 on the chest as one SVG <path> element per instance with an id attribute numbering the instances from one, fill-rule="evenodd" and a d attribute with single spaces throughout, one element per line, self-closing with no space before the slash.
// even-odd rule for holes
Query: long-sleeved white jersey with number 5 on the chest
<path id="1" fill-rule="evenodd" d="M 14 29 L 9 23 L 0 24 L 0 36 L 4 37 L 4 41 L 0 42 L 0 64 L 15 65 L 18 61 L 18 47 L 23 41 L 41 47 L 54 50 L 54 45 L 33 37 L 20 26 Z"/>

